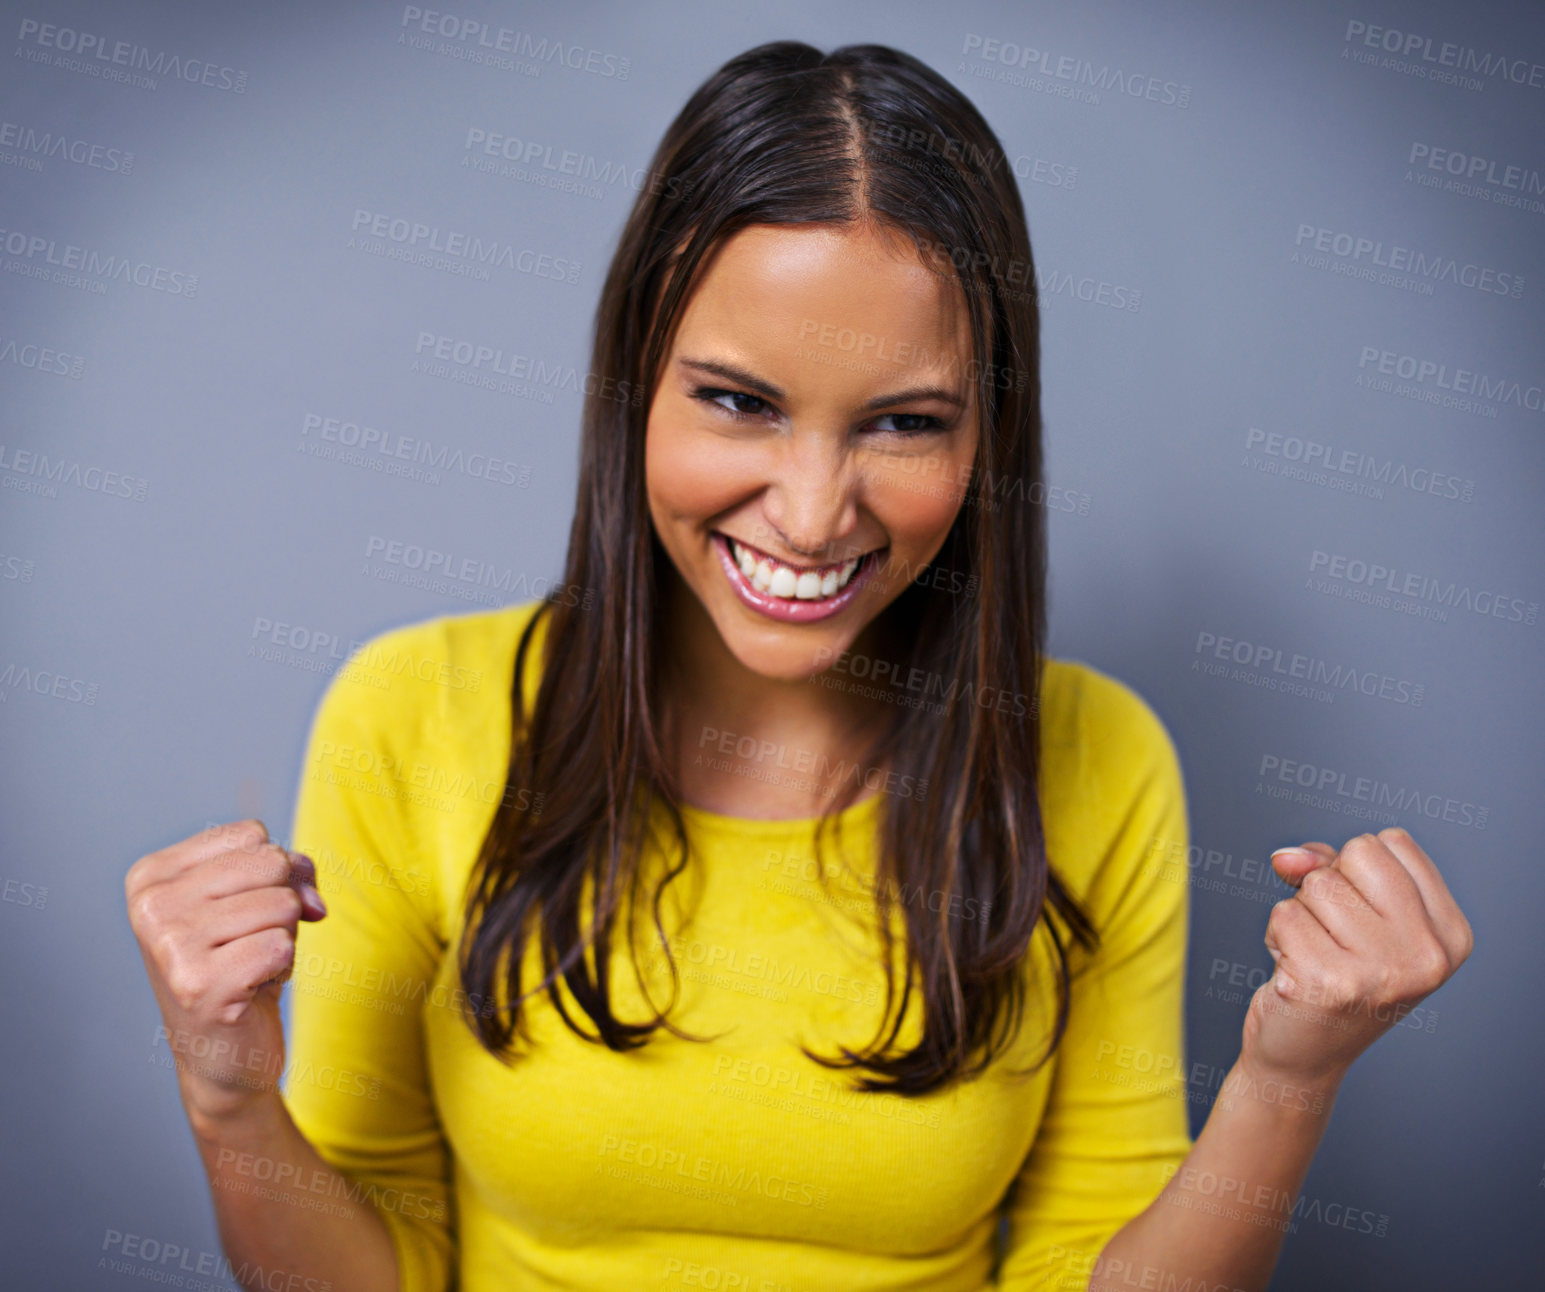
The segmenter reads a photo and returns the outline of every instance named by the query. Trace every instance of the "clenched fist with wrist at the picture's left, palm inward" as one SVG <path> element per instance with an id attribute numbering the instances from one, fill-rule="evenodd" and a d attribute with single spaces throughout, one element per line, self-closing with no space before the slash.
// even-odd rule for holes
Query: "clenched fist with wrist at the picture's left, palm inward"
<path id="1" fill-rule="evenodd" d="M 255 819 L 202 830 L 128 869 L 128 923 L 190 1116 L 226 1116 L 278 1088 L 278 1003 L 295 929 L 328 913 L 315 886 L 311 858 L 272 842 Z"/>

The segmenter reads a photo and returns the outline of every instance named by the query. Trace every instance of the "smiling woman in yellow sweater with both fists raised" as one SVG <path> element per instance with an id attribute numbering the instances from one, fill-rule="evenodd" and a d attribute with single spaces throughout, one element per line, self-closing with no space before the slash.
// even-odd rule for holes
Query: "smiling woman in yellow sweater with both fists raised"
<path id="1" fill-rule="evenodd" d="M 233 1275 L 1264 1287 L 1341 1076 L 1463 915 L 1401 830 L 1281 852 L 1193 1144 L 1180 770 L 1043 654 L 1003 148 L 905 54 L 777 42 L 652 176 L 564 584 L 358 652 L 301 853 L 249 821 L 130 872 Z"/>

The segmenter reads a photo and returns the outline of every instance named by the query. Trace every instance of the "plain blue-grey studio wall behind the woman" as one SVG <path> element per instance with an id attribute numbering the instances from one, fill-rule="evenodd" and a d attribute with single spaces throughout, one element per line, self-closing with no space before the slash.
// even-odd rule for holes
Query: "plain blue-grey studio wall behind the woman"
<path id="1" fill-rule="evenodd" d="M 561 572 L 581 406 L 562 374 L 584 372 L 633 190 L 552 167 L 637 175 L 720 62 L 797 37 L 919 56 L 1020 159 L 1049 481 L 1075 499 L 1051 512 L 1051 644 L 1139 689 L 1180 750 L 1197 1071 L 1233 1060 L 1239 983 L 1270 971 L 1272 848 L 1398 819 L 1475 927 L 1469 964 L 1346 1082 L 1273 1287 L 1534 1286 L 1540 9 L 434 12 L 578 66 L 477 62 L 392 3 L 0 6 L 0 1283 L 161 1278 L 104 1264 L 114 1233 L 219 1250 L 124 872 L 212 821 L 287 838 L 337 663 L 318 640 Z M 473 130 L 531 161 L 485 158 Z M 507 243 L 519 267 L 392 258 L 360 212 Z M 457 360 L 477 346 L 542 376 Z M 337 456 L 352 433 L 326 419 L 514 470 L 388 474 Z M 399 542 L 510 592 L 416 580 Z M 1273 688 L 1295 655 L 1357 685 Z M 1423 810 L 1353 814 L 1358 784 Z"/>

